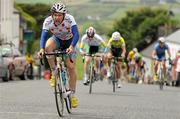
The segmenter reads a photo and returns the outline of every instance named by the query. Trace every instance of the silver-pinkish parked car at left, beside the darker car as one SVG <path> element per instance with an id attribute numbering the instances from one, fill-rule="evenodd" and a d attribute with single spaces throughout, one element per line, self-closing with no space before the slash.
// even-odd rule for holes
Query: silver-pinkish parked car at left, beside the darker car
<path id="1" fill-rule="evenodd" d="M 2 52 L 4 64 L 8 68 L 9 80 L 12 80 L 14 76 L 18 76 L 22 80 L 26 79 L 25 56 L 12 45 L 2 45 L 0 51 Z"/>

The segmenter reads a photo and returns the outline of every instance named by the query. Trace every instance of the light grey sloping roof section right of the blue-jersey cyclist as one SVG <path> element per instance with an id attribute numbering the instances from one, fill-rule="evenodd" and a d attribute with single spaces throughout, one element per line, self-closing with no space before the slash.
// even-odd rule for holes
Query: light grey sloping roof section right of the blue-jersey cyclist
<path id="1" fill-rule="evenodd" d="M 180 29 L 166 37 L 166 42 L 180 44 Z"/>

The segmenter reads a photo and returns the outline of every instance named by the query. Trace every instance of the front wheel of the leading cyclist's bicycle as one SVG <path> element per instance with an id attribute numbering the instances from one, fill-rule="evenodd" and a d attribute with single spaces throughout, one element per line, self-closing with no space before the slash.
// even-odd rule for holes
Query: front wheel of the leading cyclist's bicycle
<path id="1" fill-rule="evenodd" d="M 59 116 L 62 117 L 64 113 L 64 98 L 62 94 L 62 87 L 61 87 L 61 80 L 59 77 L 59 73 L 58 76 L 56 76 L 55 78 L 54 88 L 55 88 L 55 100 L 56 100 L 57 112 Z"/>

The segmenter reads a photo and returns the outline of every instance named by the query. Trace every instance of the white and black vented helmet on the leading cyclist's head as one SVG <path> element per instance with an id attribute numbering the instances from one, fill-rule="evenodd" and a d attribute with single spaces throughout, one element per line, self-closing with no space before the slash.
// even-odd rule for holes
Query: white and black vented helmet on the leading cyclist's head
<path id="1" fill-rule="evenodd" d="M 50 11 L 58 13 L 67 13 L 66 6 L 61 2 L 53 4 Z"/>

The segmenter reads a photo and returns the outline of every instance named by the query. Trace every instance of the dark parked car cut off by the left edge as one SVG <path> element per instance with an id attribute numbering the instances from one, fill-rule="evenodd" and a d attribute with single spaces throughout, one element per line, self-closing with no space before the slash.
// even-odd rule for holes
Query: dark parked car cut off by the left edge
<path id="1" fill-rule="evenodd" d="M 9 80 L 9 71 L 7 66 L 4 63 L 4 59 L 2 57 L 2 52 L 0 51 L 0 78 L 3 81 L 8 81 Z"/>

